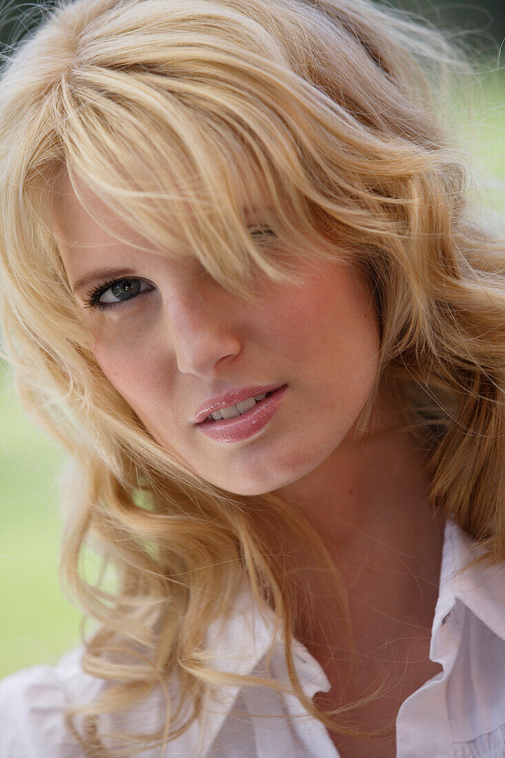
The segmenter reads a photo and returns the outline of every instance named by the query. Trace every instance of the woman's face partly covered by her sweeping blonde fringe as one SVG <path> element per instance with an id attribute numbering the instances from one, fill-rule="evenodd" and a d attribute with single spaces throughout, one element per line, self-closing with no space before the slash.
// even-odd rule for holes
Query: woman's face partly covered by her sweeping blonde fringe
<path id="1" fill-rule="evenodd" d="M 300 287 L 262 278 L 249 305 L 196 258 L 118 242 L 94 218 L 146 246 L 80 189 L 91 215 L 67 180 L 56 219 L 61 257 L 100 368 L 152 437 L 206 481 L 243 495 L 286 487 L 327 462 L 353 430 L 378 370 L 378 320 L 362 275 L 338 263 L 300 264 Z M 108 307 L 85 308 L 104 283 Z M 193 417 L 206 399 L 253 385 L 286 385 L 260 431 L 236 441 L 203 434 Z"/>

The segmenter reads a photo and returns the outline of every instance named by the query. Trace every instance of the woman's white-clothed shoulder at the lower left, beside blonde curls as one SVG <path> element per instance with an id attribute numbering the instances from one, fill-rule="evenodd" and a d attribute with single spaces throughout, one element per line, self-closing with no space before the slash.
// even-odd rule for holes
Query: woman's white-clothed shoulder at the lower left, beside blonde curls
<path id="1" fill-rule="evenodd" d="M 96 688 L 80 669 L 81 654 L 77 647 L 55 666 L 30 666 L 0 680 L 0 756 L 80 758 L 64 709 Z"/>

